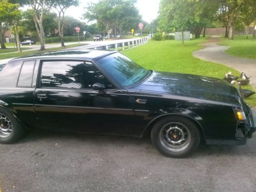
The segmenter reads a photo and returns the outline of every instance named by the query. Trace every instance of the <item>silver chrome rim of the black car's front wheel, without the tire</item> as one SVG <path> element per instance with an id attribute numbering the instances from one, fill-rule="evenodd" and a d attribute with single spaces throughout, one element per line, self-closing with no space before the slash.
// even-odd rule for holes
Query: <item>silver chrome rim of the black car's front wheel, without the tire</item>
<path id="1" fill-rule="evenodd" d="M 170 122 L 161 128 L 159 139 L 166 150 L 180 152 L 190 144 L 191 134 L 182 123 Z"/>

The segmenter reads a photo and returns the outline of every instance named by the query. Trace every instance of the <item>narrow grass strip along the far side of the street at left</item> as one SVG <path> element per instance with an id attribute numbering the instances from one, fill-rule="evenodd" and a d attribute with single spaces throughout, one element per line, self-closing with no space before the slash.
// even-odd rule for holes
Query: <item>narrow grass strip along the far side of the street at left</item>
<path id="1" fill-rule="evenodd" d="M 8 54 L 0 55 L 0 59 L 27 56 L 27 55 L 31 55 L 31 54 L 37 54 L 37 53 L 46 53 L 49 51 L 55 51 L 55 50 L 72 48 L 72 47 L 77 47 L 77 46 L 84 46 L 84 45 L 87 45 L 87 44 L 71 44 L 71 45 L 67 45 L 66 47 L 50 48 L 50 49 L 46 49 L 44 51 L 36 50 L 36 51 L 26 51 L 26 52 L 21 52 L 21 53 L 8 53 Z"/>

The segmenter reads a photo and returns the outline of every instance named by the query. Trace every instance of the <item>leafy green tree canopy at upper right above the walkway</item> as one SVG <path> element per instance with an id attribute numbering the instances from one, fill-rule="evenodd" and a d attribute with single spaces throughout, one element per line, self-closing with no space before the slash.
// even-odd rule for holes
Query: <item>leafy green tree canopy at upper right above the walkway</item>
<path id="1" fill-rule="evenodd" d="M 226 37 L 233 38 L 238 22 L 250 25 L 256 20 L 255 0 L 161 0 L 159 28 L 162 31 L 190 30 L 200 37 L 203 28 L 216 20 L 226 28 Z M 241 26 L 241 25 L 240 25 Z"/>

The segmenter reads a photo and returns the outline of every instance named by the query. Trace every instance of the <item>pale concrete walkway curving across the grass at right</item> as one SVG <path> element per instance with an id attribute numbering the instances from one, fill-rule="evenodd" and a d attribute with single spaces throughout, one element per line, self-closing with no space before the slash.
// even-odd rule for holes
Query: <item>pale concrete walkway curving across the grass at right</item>
<path id="1" fill-rule="evenodd" d="M 250 76 L 250 84 L 254 90 L 256 90 L 256 59 L 246 59 L 242 57 L 235 57 L 225 53 L 228 46 L 219 46 L 216 43 L 220 41 L 219 37 L 209 38 L 209 42 L 203 45 L 205 48 L 193 52 L 194 57 L 202 60 L 221 63 L 225 66 L 236 69 L 240 72 L 245 72 L 247 76 Z M 223 76 L 227 71 L 223 72 Z"/>

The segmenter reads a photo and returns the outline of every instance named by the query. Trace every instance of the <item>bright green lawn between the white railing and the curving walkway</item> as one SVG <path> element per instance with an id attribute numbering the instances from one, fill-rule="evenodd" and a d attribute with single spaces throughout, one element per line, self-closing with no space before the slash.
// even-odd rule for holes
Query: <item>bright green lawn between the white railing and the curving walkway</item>
<path id="1" fill-rule="evenodd" d="M 221 79 L 225 73 L 231 71 L 232 74 L 239 76 L 240 72 L 237 70 L 193 57 L 192 52 L 202 49 L 203 46 L 198 44 L 205 41 L 207 41 L 206 38 L 185 41 L 184 47 L 181 41 L 150 41 L 146 45 L 124 50 L 122 53 L 144 68 L 156 71 L 188 73 Z M 246 86 L 244 89 L 251 89 L 251 87 Z M 246 102 L 256 106 L 256 96 L 246 99 Z"/>

